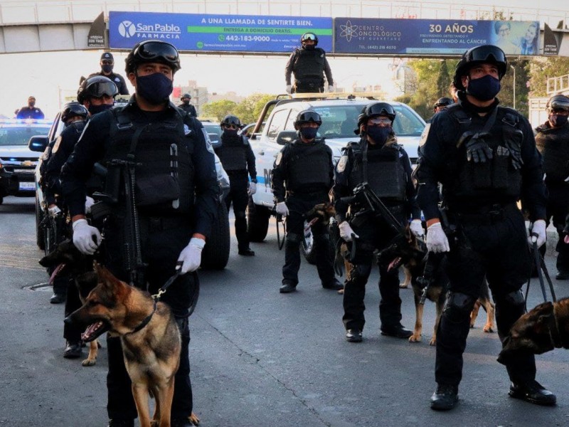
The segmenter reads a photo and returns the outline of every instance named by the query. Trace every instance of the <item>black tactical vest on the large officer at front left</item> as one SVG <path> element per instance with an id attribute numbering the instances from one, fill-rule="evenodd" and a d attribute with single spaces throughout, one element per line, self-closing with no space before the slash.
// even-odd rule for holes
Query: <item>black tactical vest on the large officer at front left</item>
<path id="1" fill-rule="evenodd" d="M 107 174 L 117 168 L 114 159 L 126 160 L 134 154 L 140 214 L 189 213 L 194 198 L 191 154 L 196 136 L 184 125 L 181 114 L 172 112 L 166 120 L 149 123 L 121 107 L 112 113 L 115 120 L 104 159 Z"/>

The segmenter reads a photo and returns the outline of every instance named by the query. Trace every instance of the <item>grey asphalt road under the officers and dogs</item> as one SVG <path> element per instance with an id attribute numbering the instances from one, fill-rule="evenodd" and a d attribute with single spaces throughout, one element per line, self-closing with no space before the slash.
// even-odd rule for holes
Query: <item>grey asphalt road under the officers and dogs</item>
<path id="1" fill-rule="evenodd" d="M 8 197 L 0 206 L 0 425 L 106 426 L 107 357 L 95 367 L 63 359 L 63 305 L 50 305 L 48 280 L 37 260 L 33 199 Z M 464 353 L 459 406 L 429 408 L 435 389 L 435 349 L 428 345 L 435 307 L 425 307 L 423 341 L 379 334 L 377 275 L 366 295 L 364 341 L 344 340 L 341 296 L 319 286 L 302 264 L 298 292 L 280 295 L 284 253 L 272 227 L 257 255 L 237 255 L 228 268 L 201 272 L 191 317 L 194 411 L 204 427 L 565 426 L 569 352 L 537 357 L 538 381 L 558 396 L 544 408 L 507 396 L 497 335 L 482 332 L 484 315 Z M 553 246 L 554 243 L 550 243 Z M 555 273 L 554 258 L 547 263 Z M 467 272 L 465 272 L 467 274 Z M 558 296 L 569 282 L 556 282 Z M 415 321 L 411 290 L 401 290 L 403 324 Z M 529 306 L 541 302 L 532 280 Z M 105 342 L 103 346 L 106 347 Z M 86 356 L 86 351 L 84 352 Z"/>

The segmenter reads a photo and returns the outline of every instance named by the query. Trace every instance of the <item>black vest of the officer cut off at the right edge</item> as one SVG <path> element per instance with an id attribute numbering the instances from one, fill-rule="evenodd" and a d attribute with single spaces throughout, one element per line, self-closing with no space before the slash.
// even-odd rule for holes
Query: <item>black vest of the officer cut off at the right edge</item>
<path id="1" fill-rule="evenodd" d="M 569 124 L 538 127 L 536 146 L 543 156 L 547 181 L 564 181 L 569 176 Z"/>

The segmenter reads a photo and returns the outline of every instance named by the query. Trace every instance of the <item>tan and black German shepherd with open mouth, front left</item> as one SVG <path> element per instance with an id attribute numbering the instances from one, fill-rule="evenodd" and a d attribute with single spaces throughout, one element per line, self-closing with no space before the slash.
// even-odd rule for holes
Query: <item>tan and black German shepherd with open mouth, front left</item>
<path id="1" fill-rule="evenodd" d="M 115 278 L 105 267 L 95 263 L 95 271 L 97 286 L 87 295 L 85 305 L 65 322 L 90 325 L 82 337 L 85 342 L 104 332 L 120 337 L 140 426 L 168 427 L 181 352 L 174 315 L 164 302 L 156 302 L 147 292 Z M 149 396 L 156 399 L 152 423 Z M 191 421 L 199 421 L 192 417 Z"/>

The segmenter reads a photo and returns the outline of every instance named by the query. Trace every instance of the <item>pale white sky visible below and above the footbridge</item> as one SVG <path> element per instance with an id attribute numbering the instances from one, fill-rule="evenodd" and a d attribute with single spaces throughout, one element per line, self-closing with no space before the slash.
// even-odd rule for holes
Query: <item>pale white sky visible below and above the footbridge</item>
<path id="1" fill-rule="evenodd" d="M 26 2 L 25 0 L 21 0 Z M 338 1 L 334 1 L 338 3 Z M 113 1 L 106 1 L 108 10 Z M 120 1 L 117 1 L 119 4 Z M 368 2 L 369 3 L 369 2 Z M 496 0 L 454 1 L 455 5 L 495 4 Z M 543 3 L 543 4 L 542 4 Z M 562 2 L 563 3 L 563 2 Z M 14 4 L 14 0 L 3 0 L 4 6 Z M 535 0 L 509 0 L 508 6 L 527 8 L 551 8 L 551 3 Z M 554 9 L 568 9 L 569 6 L 556 6 Z M 208 13 L 216 13 L 208 6 Z M 225 13 L 225 8 L 218 13 Z M 23 17 L 22 21 L 29 21 Z M 81 75 L 100 70 L 99 59 L 102 50 L 46 53 L 0 54 L 0 75 L 9 79 L 2 85 L 0 114 L 12 117 L 14 110 L 26 105 L 29 95 L 36 97 L 36 105 L 46 117 L 53 117 L 60 110 L 66 95 L 76 93 Z M 126 53 L 114 53 L 115 72 L 124 77 L 124 58 Z M 284 93 L 285 64 L 287 56 L 196 56 L 183 54 L 181 70 L 176 73 L 174 85 L 187 85 L 188 80 L 196 80 L 199 86 L 206 86 L 209 93 L 235 92 L 246 96 L 252 93 Z M 379 58 L 329 58 L 336 86 L 351 88 L 352 85 L 365 86 L 381 84 L 388 93 L 393 93 L 389 65 L 391 59 Z M 129 84 L 129 83 L 128 83 Z M 132 87 L 129 87 L 132 93 Z M 174 100 L 176 101 L 176 100 Z"/>

